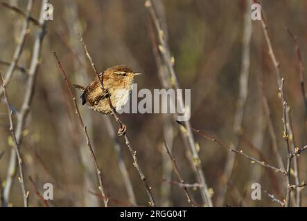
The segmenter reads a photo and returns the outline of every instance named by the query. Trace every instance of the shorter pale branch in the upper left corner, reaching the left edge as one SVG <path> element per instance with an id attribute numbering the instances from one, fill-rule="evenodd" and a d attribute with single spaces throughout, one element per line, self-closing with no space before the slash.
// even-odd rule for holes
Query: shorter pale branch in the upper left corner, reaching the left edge
<path id="1" fill-rule="evenodd" d="M 8 83 L 10 79 L 12 78 L 12 75 L 15 69 L 17 68 L 19 58 L 21 56 L 22 50 L 24 49 L 24 42 L 26 41 L 26 36 L 30 33 L 30 31 L 28 30 L 28 26 L 29 26 L 29 21 L 30 21 L 30 12 L 32 8 L 33 8 L 33 0 L 29 0 L 28 5 L 26 6 L 26 14 L 25 14 L 24 23 L 22 24 L 21 33 L 19 36 L 19 43 L 15 49 L 14 55 L 12 57 L 12 61 L 10 62 L 10 66 L 3 80 L 4 86 L 8 86 Z M 2 93 L 3 93 L 3 90 L 0 90 L 0 97 L 2 96 Z"/>

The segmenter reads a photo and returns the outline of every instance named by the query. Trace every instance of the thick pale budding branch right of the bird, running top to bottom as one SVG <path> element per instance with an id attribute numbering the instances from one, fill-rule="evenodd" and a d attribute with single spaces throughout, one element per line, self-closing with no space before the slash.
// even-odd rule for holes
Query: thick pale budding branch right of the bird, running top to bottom
<path id="1" fill-rule="evenodd" d="M 166 68 L 168 70 L 169 73 L 169 79 L 171 81 L 171 85 L 175 88 L 175 89 L 179 89 L 179 83 L 177 80 L 177 75 L 175 73 L 175 69 L 174 69 L 174 59 L 173 57 L 170 56 L 170 50 L 168 48 L 168 44 L 166 41 L 166 32 L 163 30 L 160 19 L 157 15 L 156 12 L 156 8 L 154 6 L 154 1 L 151 0 L 146 0 L 145 2 L 145 6 L 146 8 L 148 8 L 150 15 L 152 17 L 152 21 L 155 24 L 155 28 L 157 30 L 157 36 L 159 39 L 159 51 L 161 52 L 161 55 L 164 59 L 164 63 L 166 64 Z M 179 90 L 177 90 L 179 91 Z M 177 104 L 179 106 L 179 108 L 181 110 L 184 110 L 185 112 L 190 111 L 190 107 L 188 108 L 184 108 L 184 101 L 183 101 L 183 97 L 182 95 L 179 93 L 177 95 Z M 188 110 L 187 110 L 188 109 Z M 186 128 L 186 132 L 182 133 L 185 142 L 188 143 L 188 145 L 190 146 L 190 151 L 192 153 L 192 159 L 193 159 L 193 170 L 196 173 L 196 177 L 198 179 L 198 182 L 200 182 L 200 184 L 202 184 L 202 189 L 201 189 L 201 193 L 202 193 L 202 200 L 204 201 L 204 204 L 206 206 L 213 206 L 212 204 L 212 200 L 211 200 L 211 194 L 209 193 L 208 190 L 208 186 L 204 177 L 204 171 L 202 170 L 202 165 L 201 165 L 201 161 L 200 161 L 200 157 L 198 155 L 198 151 L 195 147 L 195 141 L 194 141 L 194 137 L 191 131 L 191 124 L 188 120 L 184 121 L 184 126 Z"/>

